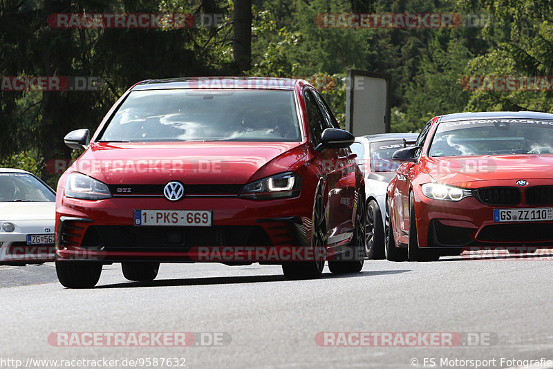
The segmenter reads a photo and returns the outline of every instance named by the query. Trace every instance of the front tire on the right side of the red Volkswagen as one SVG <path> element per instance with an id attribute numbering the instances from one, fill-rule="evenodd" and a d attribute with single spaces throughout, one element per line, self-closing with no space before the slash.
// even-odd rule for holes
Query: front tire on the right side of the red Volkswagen
<path id="1" fill-rule="evenodd" d="M 321 194 L 315 197 L 313 205 L 311 246 L 314 251 L 313 261 L 292 261 L 283 263 L 282 272 L 286 279 L 314 279 L 323 273 L 326 260 L 326 245 L 328 245 L 328 231 L 326 227 L 326 212 Z"/>

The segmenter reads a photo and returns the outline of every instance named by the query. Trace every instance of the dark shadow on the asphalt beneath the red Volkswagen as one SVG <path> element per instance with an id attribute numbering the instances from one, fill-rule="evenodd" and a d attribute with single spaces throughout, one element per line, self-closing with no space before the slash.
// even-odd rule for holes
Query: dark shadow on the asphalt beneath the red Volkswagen
<path id="1" fill-rule="evenodd" d="M 333 278 L 359 278 L 364 276 L 376 276 L 386 274 L 399 274 L 410 272 L 410 270 L 375 270 L 363 271 L 360 273 L 350 274 L 331 274 L 324 273 L 319 279 Z M 177 279 L 159 279 L 151 282 L 125 282 L 115 283 L 111 285 L 98 285 L 95 288 L 131 288 L 131 287 L 175 287 L 186 285 L 232 285 L 239 283 L 263 283 L 263 282 L 290 282 L 283 275 L 272 276 L 218 276 L 206 278 L 177 278 Z"/>

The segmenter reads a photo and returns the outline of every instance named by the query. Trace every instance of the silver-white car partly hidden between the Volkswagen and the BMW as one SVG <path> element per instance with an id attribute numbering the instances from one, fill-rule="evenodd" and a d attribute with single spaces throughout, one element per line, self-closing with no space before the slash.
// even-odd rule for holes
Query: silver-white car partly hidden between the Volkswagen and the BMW
<path id="1" fill-rule="evenodd" d="M 418 133 L 382 133 L 355 138 L 350 146 L 357 154 L 357 164 L 365 178 L 366 244 L 365 254 L 370 259 L 384 258 L 384 217 L 386 216 L 386 187 L 395 176 L 399 162 L 392 160 L 397 149 L 411 145 Z"/>

